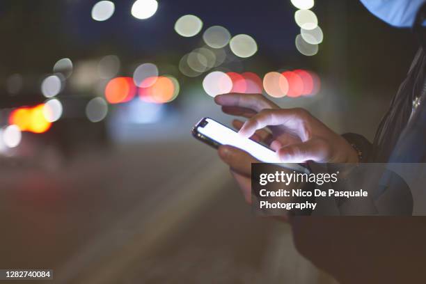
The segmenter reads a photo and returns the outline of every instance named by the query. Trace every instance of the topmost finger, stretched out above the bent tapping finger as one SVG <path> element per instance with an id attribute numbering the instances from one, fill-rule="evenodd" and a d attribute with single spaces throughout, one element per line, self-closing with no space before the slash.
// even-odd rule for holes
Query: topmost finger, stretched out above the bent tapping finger
<path id="1" fill-rule="evenodd" d="M 278 109 L 278 106 L 267 100 L 260 94 L 238 94 L 230 93 L 224 95 L 216 95 L 214 102 L 223 107 L 244 107 L 253 111 L 261 111 L 262 109 Z"/>

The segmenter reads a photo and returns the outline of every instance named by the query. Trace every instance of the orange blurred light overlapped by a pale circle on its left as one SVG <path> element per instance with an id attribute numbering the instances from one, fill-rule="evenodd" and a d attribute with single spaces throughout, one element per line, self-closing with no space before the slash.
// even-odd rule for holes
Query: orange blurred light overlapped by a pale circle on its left
<path id="1" fill-rule="evenodd" d="M 164 104 L 173 100 L 176 95 L 175 84 L 168 77 L 149 77 L 143 80 L 141 86 L 149 86 L 139 88 L 139 98 L 144 102 Z"/>

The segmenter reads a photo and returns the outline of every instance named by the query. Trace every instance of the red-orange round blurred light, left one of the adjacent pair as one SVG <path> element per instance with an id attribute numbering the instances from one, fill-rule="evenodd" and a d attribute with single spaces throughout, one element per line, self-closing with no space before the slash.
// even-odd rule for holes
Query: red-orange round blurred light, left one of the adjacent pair
<path id="1" fill-rule="evenodd" d="M 136 93 L 136 86 L 130 77 L 111 79 L 105 87 L 105 98 L 110 104 L 129 102 Z"/>

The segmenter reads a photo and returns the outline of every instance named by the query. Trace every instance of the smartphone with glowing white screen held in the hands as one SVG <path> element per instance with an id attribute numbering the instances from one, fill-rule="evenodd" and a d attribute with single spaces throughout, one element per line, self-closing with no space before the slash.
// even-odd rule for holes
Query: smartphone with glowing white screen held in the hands
<path id="1" fill-rule="evenodd" d="M 220 145 L 231 145 L 248 152 L 264 163 L 279 164 L 294 171 L 310 173 L 308 168 L 301 164 L 282 163 L 274 150 L 256 141 L 240 136 L 235 130 L 218 123 L 212 118 L 201 119 L 192 129 L 192 135 L 214 148 L 219 148 Z"/>

